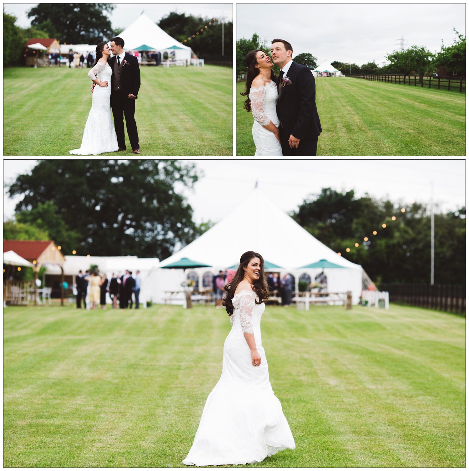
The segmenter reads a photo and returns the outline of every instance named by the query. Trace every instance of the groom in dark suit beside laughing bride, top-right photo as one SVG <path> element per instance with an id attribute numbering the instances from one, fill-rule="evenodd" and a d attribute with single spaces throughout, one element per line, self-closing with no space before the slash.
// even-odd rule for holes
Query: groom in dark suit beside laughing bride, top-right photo
<path id="1" fill-rule="evenodd" d="M 277 79 L 280 139 L 284 156 L 315 156 L 321 122 L 316 109 L 316 85 L 311 70 L 292 60 L 288 41 L 274 39 L 272 62 L 280 67 Z"/>

